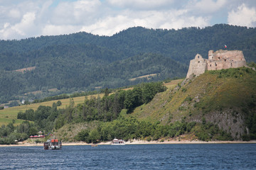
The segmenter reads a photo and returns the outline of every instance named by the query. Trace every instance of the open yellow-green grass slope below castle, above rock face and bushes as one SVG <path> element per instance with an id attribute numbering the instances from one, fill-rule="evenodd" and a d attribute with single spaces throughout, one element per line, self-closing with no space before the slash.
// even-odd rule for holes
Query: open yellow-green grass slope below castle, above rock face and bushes
<path id="1" fill-rule="evenodd" d="M 181 84 L 176 80 L 176 84 Z M 156 94 L 154 99 L 134 109 L 132 115 L 139 120 L 169 123 L 182 118 L 198 119 L 202 114 L 233 109 L 233 113 L 252 109 L 256 101 L 256 72 L 248 68 L 209 71 L 174 91 L 169 89 Z M 235 110 L 235 109 L 238 109 Z"/>

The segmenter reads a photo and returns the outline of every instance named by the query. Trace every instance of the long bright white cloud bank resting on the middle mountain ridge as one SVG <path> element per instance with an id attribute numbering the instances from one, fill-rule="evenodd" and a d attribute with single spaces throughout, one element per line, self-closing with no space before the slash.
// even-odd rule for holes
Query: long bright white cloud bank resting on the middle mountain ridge
<path id="1" fill-rule="evenodd" d="M 134 26 L 146 28 L 183 28 L 190 26 L 208 26 L 208 18 L 187 16 L 186 10 L 178 11 L 124 11 L 122 15 L 109 16 L 90 26 L 83 26 L 80 31 L 97 35 L 113 35 L 120 30 Z M 137 16 L 140 16 L 139 18 Z"/>

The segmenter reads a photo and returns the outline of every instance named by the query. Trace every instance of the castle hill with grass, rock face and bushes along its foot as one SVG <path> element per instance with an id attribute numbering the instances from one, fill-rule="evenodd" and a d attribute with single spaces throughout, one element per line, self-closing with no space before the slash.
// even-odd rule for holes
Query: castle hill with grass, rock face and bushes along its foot
<path id="1" fill-rule="evenodd" d="M 175 81 L 132 113 L 123 109 L 115 120 L 68 123 L 55 134 L 66 141 L 85 142 L 109 141 L 114 136 L 125 140 L 255 140 L 255 96 L 254 70 L 209 71 Z"/>

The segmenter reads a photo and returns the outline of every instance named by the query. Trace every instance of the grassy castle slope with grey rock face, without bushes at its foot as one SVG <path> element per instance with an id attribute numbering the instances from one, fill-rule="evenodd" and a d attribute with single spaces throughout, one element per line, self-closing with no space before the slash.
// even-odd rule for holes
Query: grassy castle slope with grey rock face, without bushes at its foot
<path id="1" fill-rule="evenodd" d="M 240 139 L 247 130 L 255 135 L 255 106 L 256 72 L 244 67 L 208 71 L 183 81 L 136 108 L 132 115 L 139 120 L 159 120 L 164 125 L 176 120 L 206 120 Z"/>

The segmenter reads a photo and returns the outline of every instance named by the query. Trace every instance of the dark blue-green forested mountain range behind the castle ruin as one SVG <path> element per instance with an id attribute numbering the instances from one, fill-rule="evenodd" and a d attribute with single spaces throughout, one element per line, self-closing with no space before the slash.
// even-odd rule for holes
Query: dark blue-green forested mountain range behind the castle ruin
<path id="1" fill-rule="evenodd" d="M 256 61 L 256 29 L 223 24 L 181 30 L 136 27 L 110 37 L 74 33 L 1 40 L 0 103 L 29 91 L 58 89 L 62 94 L 185 77 L 197 53 L 207 57 L 208 50 L 224 45 L 242 50 L 247 62 Z M 26 67 L 36 68 L 14 72 Z M 129 81 L 146 74 L 156 77 Z"/>

